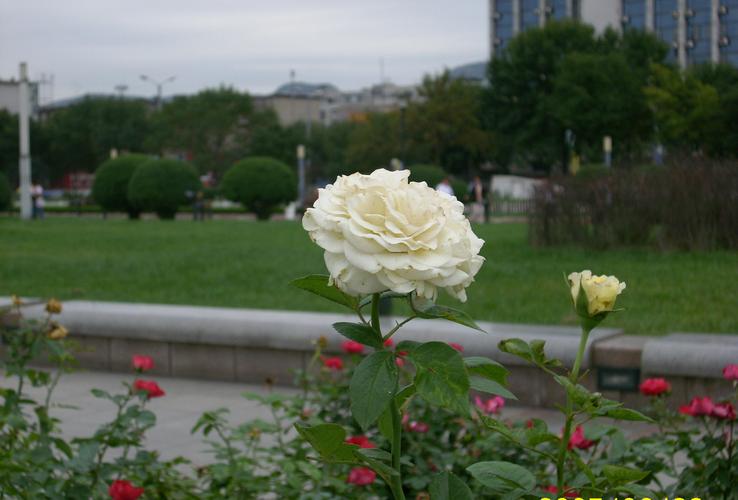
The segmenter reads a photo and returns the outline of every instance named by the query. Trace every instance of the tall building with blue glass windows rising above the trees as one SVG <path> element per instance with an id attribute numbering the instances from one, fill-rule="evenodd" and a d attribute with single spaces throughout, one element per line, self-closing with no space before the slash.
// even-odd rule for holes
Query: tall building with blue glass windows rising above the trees
<path id="1" fill-rule="evenodd" d="M 611 0 L 607 0 L 608 5 Z M 490 55 L 499 54 L 519 32 L 550 19 L 582 17 L 582 3 L 597 15 L 603 0 L 489 0 Z M 665 41 L 681 67 L 704 62 L 738 66 L 738 0 L 612 0 L 620 29 L 652 31 Z M 602 24 L 602 23 L 600 23 Z"/>

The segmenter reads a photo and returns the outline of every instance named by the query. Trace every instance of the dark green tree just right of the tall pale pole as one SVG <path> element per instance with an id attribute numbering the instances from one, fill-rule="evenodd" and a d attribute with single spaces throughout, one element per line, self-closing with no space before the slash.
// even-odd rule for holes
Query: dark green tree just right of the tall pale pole
<path id="1" fill-rule="evenodd" d="M 52 178 L 91 172 L 111 149 L 142 151 L 149 136 L 148 104 L 120 98 L 86 98 L 57 110 L 44 124 Z"/>

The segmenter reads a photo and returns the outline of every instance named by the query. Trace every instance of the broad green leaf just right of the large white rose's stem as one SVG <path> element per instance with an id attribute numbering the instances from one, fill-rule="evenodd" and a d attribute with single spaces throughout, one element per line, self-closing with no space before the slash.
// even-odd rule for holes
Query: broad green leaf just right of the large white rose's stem
<path id="1" fill-rule="evenodd" d="M 408 356 L 417 369 L 415 387 L 431 404 L 469 414 L 469 376 L 461 355 L 445 342 L 427 342 Z"/>

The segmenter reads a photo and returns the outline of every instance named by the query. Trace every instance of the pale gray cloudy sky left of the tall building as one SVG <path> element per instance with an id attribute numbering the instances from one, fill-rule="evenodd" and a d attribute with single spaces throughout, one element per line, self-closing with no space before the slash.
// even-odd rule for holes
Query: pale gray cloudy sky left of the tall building
<path id="1" fill-rule="evenodd" d="M 27 61 L 53 98 L 165 94 L 232 85 L 269 93 L 289 80 L 343 90 L 487 56 L 487 0 L 0 0 L 0 79 Z M 49 98 L 47 95 L 42 96 Z"/>

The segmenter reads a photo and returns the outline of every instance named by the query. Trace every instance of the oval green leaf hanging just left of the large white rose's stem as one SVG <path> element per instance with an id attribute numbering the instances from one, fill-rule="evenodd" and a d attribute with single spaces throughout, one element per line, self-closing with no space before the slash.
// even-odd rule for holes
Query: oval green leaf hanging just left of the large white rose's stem
<path id="1" fill-rule="evenodd" d="M 356 367 L 349 384 L 351 413 L 366 430 L 384 412 L 397 391 L 395 355 L 378 351 L 364 358 Z"/>

